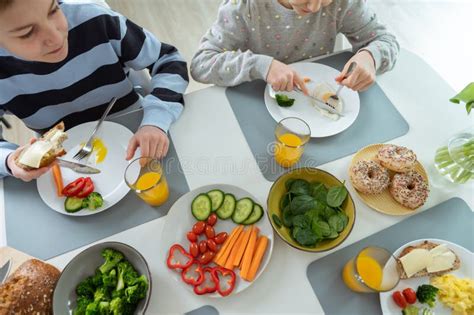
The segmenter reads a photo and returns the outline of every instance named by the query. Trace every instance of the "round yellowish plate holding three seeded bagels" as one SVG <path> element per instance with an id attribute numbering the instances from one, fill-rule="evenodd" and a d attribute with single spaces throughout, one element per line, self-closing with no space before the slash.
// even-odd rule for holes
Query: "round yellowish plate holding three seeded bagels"
<path id="1" fill-rule="evenodd" d="M 415 152 L 394 144 L 372 144 L 357 152 L 349 178 L 359 197 L 372 209 L 408 215 L 429 196 L 428 175 Z"/>

